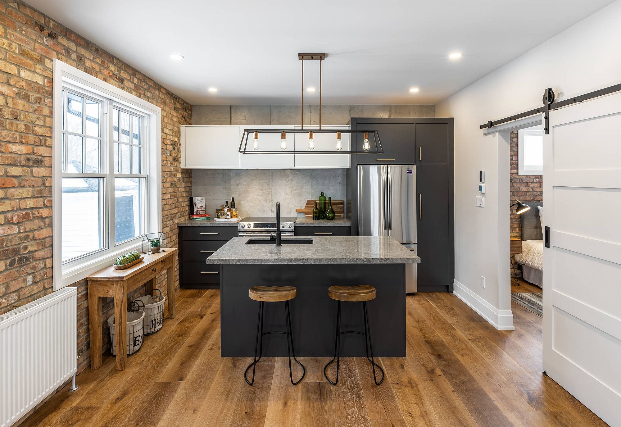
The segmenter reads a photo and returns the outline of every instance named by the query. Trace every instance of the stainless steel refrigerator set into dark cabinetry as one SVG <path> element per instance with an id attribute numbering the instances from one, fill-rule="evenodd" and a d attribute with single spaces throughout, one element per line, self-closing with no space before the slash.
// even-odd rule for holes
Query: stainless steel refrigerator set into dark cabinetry
<path id="1" fill-rule="evenodd" d="M 358 235 L 391 236 L 416 252 L 416 166 L 358 166 Z M 406 292 L 417 291 L 416 265 L 406 264 Z"/>

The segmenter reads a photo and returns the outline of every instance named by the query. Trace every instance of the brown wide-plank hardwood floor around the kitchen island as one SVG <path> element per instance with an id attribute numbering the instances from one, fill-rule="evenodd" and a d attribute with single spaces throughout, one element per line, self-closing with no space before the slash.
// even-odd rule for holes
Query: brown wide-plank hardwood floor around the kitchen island
<path id="1" fill-rule="evenodd" d="M 498 331 L 454 295 L 409 295 L 407 357 L 381 359 L 379 387 L 353 358 L 342 359 L 336 387 L 324 358 L 301 358 L 297 386 L 286 358 L 264 359 L 250 387 L 250 359 L 220 358 L 219 291 L 181 290 L 176 318 L 125 371 L 104 357 L 22 426 L 605 426 L 542 374 L 542 319 L 512 309 L 515 331 Z"/>

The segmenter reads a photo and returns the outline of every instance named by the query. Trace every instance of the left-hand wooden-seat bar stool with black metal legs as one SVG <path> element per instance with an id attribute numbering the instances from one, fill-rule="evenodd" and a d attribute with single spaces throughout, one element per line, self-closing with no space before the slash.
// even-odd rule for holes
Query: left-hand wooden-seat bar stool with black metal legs
<path id="1" fill-rule="evenodd" d="M 287 340 L 287 353 L 289 354 L 289 379 L 291 384 L 296 385 L 306 375 L 306 367 L 296 359 L 296 352 L 293 347 L 293 331 L 291 329 L 291 313 L 289 312 L 289 300 L 292 300 L 297 295 L 297 289 L 294 286 L 254 286 L 250 288 L 250 299 L 260 302 L 259 303 L 259 319 L 256 324 L 256 341 L 255 341 L 255 357 L 253 362 L 248 365 L 246 371 L 243 372 L 243 379 L 246 380 L 248 385 L 255 384 L 255 370 L 256 364 L 261 360 L 261 351 L 263 350 L 263 335 L 272 333 L 281 333 L 288 336 Z M 286 331 L 270 331 L 263 332 L 263 304 L 266 302 L 283 302 L 284 301 L 284 321 L 287 330 Z M 258 349 L 259 357 L 257 359 L 256 353 Z M 299 366 L 302 367 L 302 376 L 296 382 L 293 381 L 293 374 L 291 373 L 291 355 L 293 360 L 296 361 Z M 248 381 L 248 370 L 252 367 L 252 380 Z"/>

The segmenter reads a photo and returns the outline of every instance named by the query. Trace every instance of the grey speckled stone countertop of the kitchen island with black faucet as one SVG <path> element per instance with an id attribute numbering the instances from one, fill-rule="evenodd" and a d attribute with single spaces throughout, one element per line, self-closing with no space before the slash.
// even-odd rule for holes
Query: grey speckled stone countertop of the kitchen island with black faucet
<path id="1" fill-rule="evenodd" d="M 310 239 L 312 245 L 245 245 L 251 237 L 233 237 L 207 264 L 419 264 L 420 258 L 392 237 L 283 237 Z"/>

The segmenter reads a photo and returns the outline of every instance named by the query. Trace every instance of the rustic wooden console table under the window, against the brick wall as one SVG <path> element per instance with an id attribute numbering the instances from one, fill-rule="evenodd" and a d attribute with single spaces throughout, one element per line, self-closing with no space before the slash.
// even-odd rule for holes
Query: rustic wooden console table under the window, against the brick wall
<path id="1" fill-rule="evenodd" d="M 147 283 L 147 293 L 155 287 L 155 278 L 166 270 L 168 315 L 175 318 L 175 272 L 173 263 L 177 248 L 166 252 L 143 254 L 145 259 L 133 267 L 116 270 L 109 266 L 88 280 L 88 315 L 91 331 L 91 369 L 101 367 L 101 298 L 114 297 L 114 320 L 116 323 L 117 371 L 123 371 L 127 363 L 127 294 Z"/>

